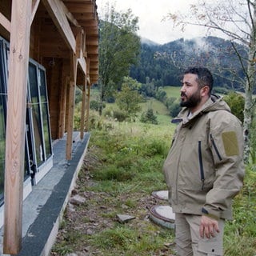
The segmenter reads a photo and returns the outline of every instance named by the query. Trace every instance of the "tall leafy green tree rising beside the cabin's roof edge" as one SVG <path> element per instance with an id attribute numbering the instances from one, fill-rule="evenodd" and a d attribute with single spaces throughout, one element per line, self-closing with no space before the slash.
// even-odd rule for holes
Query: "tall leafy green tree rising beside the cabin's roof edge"
<path id="1" fill-rule="evenodd" d="M 130 66 L 138 61 L 140 39 L 135 34 L 137 30 L 138 18 L 130 9 L 118 13 L 114 6 L 106 5 L 99 33 L 99 114 L 102 114 L 106 96 L 116 90 L 122 78 L 129 74 Z"/>

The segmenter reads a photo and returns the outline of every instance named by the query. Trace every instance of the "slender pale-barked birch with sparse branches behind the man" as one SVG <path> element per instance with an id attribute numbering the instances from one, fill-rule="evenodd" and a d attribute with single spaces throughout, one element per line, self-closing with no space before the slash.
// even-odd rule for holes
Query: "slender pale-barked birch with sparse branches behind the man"
<path id="1" fill-rule="evenodd" d="M 202 26 L 209 33 L 212 30 L 221 32 L 230 39 L 234 51 L 244 72 L 245 105 L 244 105 L 244 160 L 249 162 L 250 131 L 254 115 L 252 93 L 255 87 L 256 65 L 256 1 L 255 0 L 217 0 L 207 2 L 199 0 L 197 5 L 190 6 L 190 14 L 168 14 L 174 26 Z M 246 56 L 238 49 L 238 44 L 246 46 Z"/>

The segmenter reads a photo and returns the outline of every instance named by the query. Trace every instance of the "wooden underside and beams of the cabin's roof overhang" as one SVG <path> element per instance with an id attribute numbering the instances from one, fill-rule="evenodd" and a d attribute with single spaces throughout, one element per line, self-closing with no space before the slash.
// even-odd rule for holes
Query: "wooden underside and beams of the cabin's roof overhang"
<path id="1" fill-rule="evenodd" d="M 0 32 L 7 40 L 10 38 L 10 6 L 1 6 L 0 2 Z M 75 31 L 81 29 L 86 52 L 77 56 L 78 64 L 85 69 L 84 63 L 89 58 L 91 66 L 98 65 L 98 13 L 95 0 L 33 0 L 31 23 L 39 18 L 50 20 L 48 25 L 47 22 L 43 25 L 43 33 L 39 37 L 42 57 L 68 58 L 69 50 L 77 53 Z M 63 40 L 66 42 L 64 45 Z M 88 72 L 90 77 L 90 69 Z M 90 83 L 98 82 L 97 72 L 94 68 Z"/>

